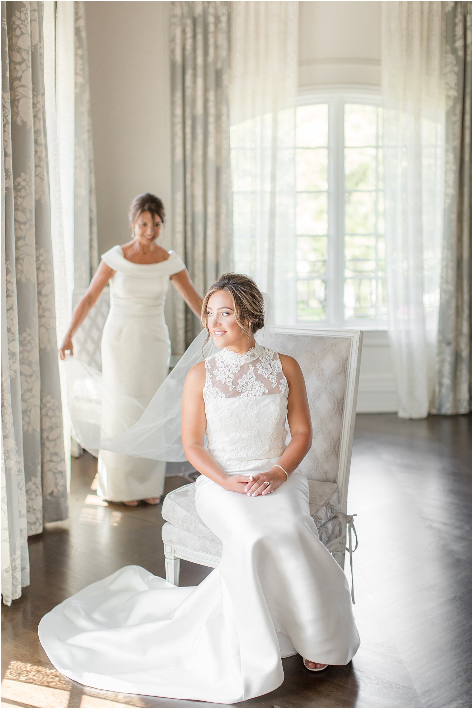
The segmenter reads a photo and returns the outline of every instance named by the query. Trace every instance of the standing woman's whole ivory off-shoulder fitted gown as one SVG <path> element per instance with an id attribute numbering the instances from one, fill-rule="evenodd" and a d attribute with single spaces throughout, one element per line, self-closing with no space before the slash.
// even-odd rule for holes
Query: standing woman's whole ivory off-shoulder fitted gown
<path id="1" fill-rule="evenodd" d="M 186 268 L 174 253 L 156 264 L 135 264 L 114 246 L 101 257 L 110 279 L 110 312 L 102 334 L 102 435 L 131 428 L 169 373 L 171 342 L 164 320 L 169 277 Z M 125 398 L 124 398 L 125 397 Z M 124 404 L 126 401 L 126 404 Z M 109 451 L 98 454 L 98 493 L 108 500 L 159 497 L 166 463 Z"/>

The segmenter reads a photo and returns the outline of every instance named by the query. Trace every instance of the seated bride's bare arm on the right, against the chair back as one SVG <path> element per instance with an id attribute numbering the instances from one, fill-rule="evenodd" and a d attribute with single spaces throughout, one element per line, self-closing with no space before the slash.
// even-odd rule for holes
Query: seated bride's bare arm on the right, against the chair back
<path id="1" fill-rule="evenodd" d="M 304 376 L 299 364 L 293 357 L 288 357 L 287 354 L 280 354 L 280 360 L 283 365 L 283 374 L 289 385 L 287 423 L 289 424 L 291 440 L 278 460 L 278 464 L 290 475 L 302 462 L 302 459 L 312 446 L 312 422 L 310 420 Z M 269 490 L 267 485 L 261 484 L 260 477 L 272 482 Z M 277 489 L 285 480 L 284 472 L 278 467 L 273 467 L 268 473 L 260 473 L 253 476 L 253 485 L 249 489 L 249 493 L 251 495 L 266 494 L 271 489 Z"/>

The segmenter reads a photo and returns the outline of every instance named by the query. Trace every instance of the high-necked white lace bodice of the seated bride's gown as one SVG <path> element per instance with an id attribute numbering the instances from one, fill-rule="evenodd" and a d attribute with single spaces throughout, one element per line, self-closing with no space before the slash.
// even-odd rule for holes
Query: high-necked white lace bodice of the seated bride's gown
<path id="1" fill-rule="evenodd" d="M 269 464 L 285 449 L 289 389 L 279 355 L 256 344 L 220 350 L 205 362 L 209 452 L 225 471 Z"/>

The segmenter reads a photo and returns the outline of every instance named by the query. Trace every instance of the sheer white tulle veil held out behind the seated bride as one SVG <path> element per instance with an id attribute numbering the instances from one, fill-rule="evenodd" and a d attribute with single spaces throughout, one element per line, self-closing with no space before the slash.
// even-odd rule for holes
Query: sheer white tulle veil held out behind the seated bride
<path id="1" fill-rule="evenodd" d="M 274 347 L 273 307 L 270 297 L 264 296 L 265 325 L 256 333 L 256 341 L 264 347 Z M 110 392 L 103 381 L 101 372 L 75 357 L 67 357 L 64 367 L 67 380 L 67 400 L 72 419 L 74 437 L 82 447 L 97 455 L 98 450 L 132 455 L 164 461 L 185 461 L 181 440 L 181 411 L 184 381 L 191 367 L 211 357 L 217 352 L 212 337 L 207 339 L 203 330 L 191 342 L 179 359 L 176 367 L 154 394 L 148 406 L 135 398 L 120 396 Z M 103 401 L 110 398 L 114 404 L 120 396 L 120 411 L 142 410 L 142 415 L 134 425 L 122 418 L 120 435 L 116 430 L 103 428 L 101 408 Z M 115 421 L 116 425 L 116 421 Z"/>

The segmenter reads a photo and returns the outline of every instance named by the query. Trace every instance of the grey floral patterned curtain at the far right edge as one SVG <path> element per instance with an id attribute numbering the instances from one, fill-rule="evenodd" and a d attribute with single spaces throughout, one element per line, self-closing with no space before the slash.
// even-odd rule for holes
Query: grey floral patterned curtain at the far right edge
<path id="1" fill-rule="evenodd" d="M 445 3 L 445 208 L 435 413 L 472 411 L 472 4 Z"/>

